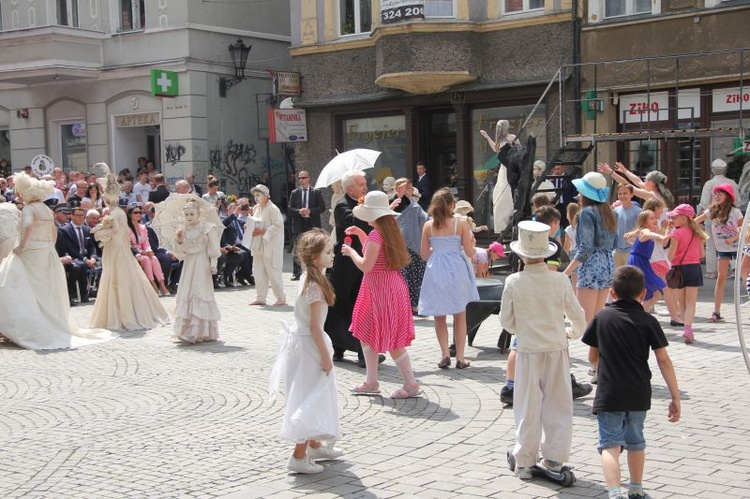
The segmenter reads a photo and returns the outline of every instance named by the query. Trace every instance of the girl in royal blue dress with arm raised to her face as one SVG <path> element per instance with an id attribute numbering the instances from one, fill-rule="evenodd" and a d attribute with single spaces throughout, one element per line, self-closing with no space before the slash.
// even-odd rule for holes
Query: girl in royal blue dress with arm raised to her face
<path id="1" fill-rule="evenodd" d="M 659 234 L 656 216 L 651 210 L 643 210 L 638 214 L 635 229 L 625 234 L 625 239 L 633 242 L 630 250 L 628 265 L 634 265 L 643 271 L 646 278 L 646 296 L 643 301 L 643 309 L 650 310 L 659 293 L 667 286 L 661 277 L 656 275 L 651 267 L 651 254 L 654 252 L 654 242 L 662 244 L 667 236 Z"/>

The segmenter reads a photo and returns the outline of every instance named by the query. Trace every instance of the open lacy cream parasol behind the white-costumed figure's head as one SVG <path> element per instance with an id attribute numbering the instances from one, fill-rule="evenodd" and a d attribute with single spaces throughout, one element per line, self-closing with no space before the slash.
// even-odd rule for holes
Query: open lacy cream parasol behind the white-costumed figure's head
<path id="1" fill-rule="evenodd" d="M 185 215 L 182 212 L 183 207 L 188 201 L 197 202 L 200 206 L 200 219 L 216 227 L 217 235 L 221 235 L 224 230 L 219 213 L 213 203 L 199 198 L 195 193 L 177 194 L 173 192 L 167 199 L 156 204 L 156 216 L 151 222 L 151 228 L 154 229 L 159 237 L 159 246 L 177 255 L 181 260 L 184 258 L 182 249 L 177 244 L 177 229 L 185 227 Z"/>

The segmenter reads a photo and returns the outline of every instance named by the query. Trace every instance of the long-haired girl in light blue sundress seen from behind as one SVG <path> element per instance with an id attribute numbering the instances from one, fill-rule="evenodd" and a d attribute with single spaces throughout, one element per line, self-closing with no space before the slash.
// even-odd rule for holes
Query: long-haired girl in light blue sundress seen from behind
<path id="1" fill-rule="evenodd" d="M 465 369 L 466 305 L 479 300 L 474 270 L 469 260 L 474 256 L 471 228 L 466 220 L 453 217 L 455 201 L 448 188 L 435 192 L 428 213 L 431 220 L 422 229 L 423 260 L 427 260 L 422 289 L 419 293 L 419 314 L 435 317 L 435 333 L 442 360 L 438 367 L 451 365 L 448 350 L 447 315 L 453 315 L 453 341 L 456 344 L 456 368 Z M 463 248 L 463 252 L 461 251 Z"/>

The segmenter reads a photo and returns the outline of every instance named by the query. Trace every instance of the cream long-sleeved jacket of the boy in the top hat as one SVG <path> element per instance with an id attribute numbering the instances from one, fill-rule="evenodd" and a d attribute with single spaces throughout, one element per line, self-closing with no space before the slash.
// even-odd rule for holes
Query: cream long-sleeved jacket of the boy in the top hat
<path id="1" fill-rule="evenodd" d="M 518 335 L 519 353 L 567 349 L 565 317 L 570 319 L 572 336 L 579 338 L 586 316 L 565 274 L 548 269 L 545 263 L 534 263 L 505 279 L 500 325 Z"/>

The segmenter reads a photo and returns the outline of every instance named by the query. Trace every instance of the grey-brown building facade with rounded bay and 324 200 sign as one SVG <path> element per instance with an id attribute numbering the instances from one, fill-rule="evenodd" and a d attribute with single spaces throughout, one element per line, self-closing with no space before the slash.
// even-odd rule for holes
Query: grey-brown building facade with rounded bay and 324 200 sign
<path id="1" fill-rule="evenodd" d="M 479 131 L 494 136 L 508 119 L 514 133 L 536 136 L 537 157 L 559 146 L 558 93 L 539 99 L 576 62 L 571 9 L 565 0 L 292 2 L 296 105 L 309 130 L 295 146 L 298 167 L 315 173 L 337 150 L 376 149 L 375 186 L 413 178 L 421 161 L 434 187 L 454 188 L 488 223 L 496 164 Z"/>

